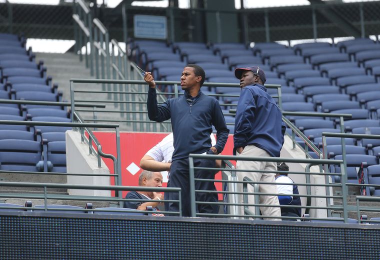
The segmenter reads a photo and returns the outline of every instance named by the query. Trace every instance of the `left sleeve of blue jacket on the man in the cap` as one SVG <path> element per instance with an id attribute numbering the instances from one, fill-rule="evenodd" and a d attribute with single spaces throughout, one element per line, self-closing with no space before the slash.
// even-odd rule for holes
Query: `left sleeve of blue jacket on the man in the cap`
<path id="1" fill-rule="evenodd" d="M 233 146 L 235 148 L 246 145 L 247 134 L 252 131 L 255 109 L 256 104 L 252 92 L 246 88 L 241 89 L 236 107 L 235 132 L 233 134 Z"/>

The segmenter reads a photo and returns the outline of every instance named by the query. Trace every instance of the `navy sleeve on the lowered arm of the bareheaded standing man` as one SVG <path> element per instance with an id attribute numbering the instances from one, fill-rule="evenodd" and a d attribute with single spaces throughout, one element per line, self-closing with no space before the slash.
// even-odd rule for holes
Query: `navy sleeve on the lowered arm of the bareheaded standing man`
<path id="1" fill-rule="evenodd" d="M 227 142 L 229 129 L 225 124 L 224 115 L 217 100 L 214 101 L 212 111 L 212 124 L 216 129 L 216 144 L 214 147 L 216 148 L 217 153 L 220 153 L 224 149 L 224 145 Z"/>

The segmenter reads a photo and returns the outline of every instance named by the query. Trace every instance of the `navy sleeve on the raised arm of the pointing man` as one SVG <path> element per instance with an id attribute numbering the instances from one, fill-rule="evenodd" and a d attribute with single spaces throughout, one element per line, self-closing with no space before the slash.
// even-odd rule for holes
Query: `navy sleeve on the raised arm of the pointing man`
<path id="1" fill-rule="evenodd" d="M 157 104 L 157 94 L 155 88 L 149 87 L 146 100 L 148 117 L 152 121 L 162 122 L 170 118 L 170 106 L 168 100 L 163 104 Z"/>

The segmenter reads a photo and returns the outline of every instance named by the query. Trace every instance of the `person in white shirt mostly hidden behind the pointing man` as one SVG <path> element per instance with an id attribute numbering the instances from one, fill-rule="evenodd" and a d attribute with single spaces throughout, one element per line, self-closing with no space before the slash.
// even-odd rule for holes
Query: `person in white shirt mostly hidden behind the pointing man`
<path id="1" fill-rule="evenodd" d="M 215 136 L 211 133 L 211 145 L 216 144 Z M 169 183 L 170 178 L 170 165 L 171 156 L 174 151 L 173 146 L 173 133 L 166 135 L 160 142 L 154 145 L 150 150 L 148 150 L 140 160 L 140 167 L 144 170 L 150 171 L 161 171 L 162 175 L 167 173 L 167 183 Z M 220 160 L 216 160 L 216 167 L 220 167 Z M 164 192 L 164 199 L 168 199 L 167 192 Z M 168 211 L 168 203 L 165 204 L 165 211 Z"/>

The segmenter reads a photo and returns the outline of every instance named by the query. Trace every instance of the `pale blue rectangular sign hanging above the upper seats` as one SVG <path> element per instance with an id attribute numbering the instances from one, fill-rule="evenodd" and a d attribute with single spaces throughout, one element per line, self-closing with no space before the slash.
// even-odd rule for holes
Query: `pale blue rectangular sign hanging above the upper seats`
<path id="1" fill-rule="evenodd" d="M 134 15 L 134 37 L 166 39 L 167 26 L 165 16 Z"/>

